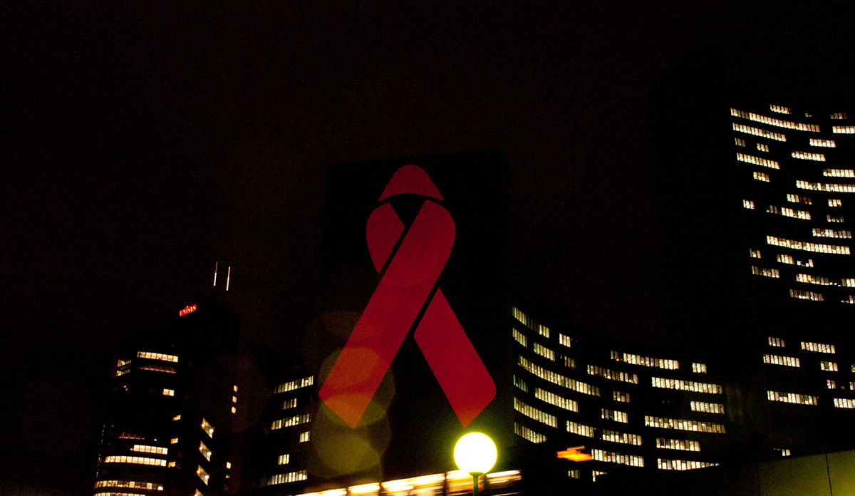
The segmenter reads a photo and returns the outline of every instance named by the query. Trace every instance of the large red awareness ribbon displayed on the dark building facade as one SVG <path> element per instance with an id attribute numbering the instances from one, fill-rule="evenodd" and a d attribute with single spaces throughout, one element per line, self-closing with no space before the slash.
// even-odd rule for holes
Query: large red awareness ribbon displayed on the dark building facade
<path id="1" fill-rule="evenodd" d="M 356 428 L 424 309 L 414 334 L 416 344 L 466 427 L 496 396 L 496 386 L 442 290 L 433 292 L 454 244 L 454 221 L 436 203 L 443 198 L 422 168 L 399 168 L 378 201 L 400 194 L 426 200 L 406 233 L 388 202 L 369 216 L 365 237 L 371 260 L 378 273 L 387 267 L 321 387 L 321 401 Z"/>

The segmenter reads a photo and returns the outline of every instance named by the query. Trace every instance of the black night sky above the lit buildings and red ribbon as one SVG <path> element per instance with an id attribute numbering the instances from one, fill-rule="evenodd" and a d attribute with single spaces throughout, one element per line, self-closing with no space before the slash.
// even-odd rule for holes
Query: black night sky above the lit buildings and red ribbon
<path id="1" fill-rule="evenodd" d="M 0 481 L 85 492 L 121 336 L 231 263 L 246 343 L 314 302 L 328 164 L 510 162 L 516 291 L 663 336 L 648 97 L 699 43 L 737 83 L 852 95 L 846 3 L 0 7 Z"/>

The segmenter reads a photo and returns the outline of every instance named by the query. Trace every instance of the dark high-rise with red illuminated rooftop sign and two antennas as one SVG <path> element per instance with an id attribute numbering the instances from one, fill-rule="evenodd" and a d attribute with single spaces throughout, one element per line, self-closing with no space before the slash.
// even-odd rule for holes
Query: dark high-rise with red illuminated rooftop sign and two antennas
<path id="1" fill-rule="evenodd" d="M 242 392 L 238 316 L 215 299 L 174 310 L 123 346 L 112 371 L 94 496 L 215 496 L 231 477 Z"/>

